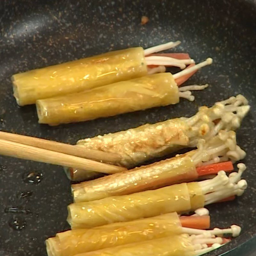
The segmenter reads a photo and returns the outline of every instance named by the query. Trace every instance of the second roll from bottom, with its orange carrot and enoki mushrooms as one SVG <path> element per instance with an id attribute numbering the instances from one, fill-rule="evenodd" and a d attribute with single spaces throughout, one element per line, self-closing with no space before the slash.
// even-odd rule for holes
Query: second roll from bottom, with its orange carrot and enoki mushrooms
<path id="1" fill-rule="evenodd" d="M 208 238 L 209 244 L 216 240 L 213 238 L 214 236 L 230 234 L 235 237 L 240 234 L 241 228 L 236 225 L 225 229 L 205 230 L 210 227 L 209 211 L 205 208 L 199 208 L 195 212 L 191 216 L 179 216 L 173 212 L 91 229 L 68 230 L 48 238 L 46 249 L 48 256 L 73 256 L 79 253 L 180 234 L 201 235 L 204 243 Z M 218 239 L 221 244 L 229 241 L 226 238 L 225 240 Z"/>

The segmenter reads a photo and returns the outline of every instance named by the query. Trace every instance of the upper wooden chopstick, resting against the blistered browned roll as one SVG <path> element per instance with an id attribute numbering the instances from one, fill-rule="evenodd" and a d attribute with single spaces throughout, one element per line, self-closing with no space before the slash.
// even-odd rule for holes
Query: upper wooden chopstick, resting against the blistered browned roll
<path id="1" fill-rule="evenodd" d="M 82 146 L 70 145 L 52 140 L 44 140 L 10 132 L 0 132 L 0 139 L 18 142 L 36 148 L 44 148 L 72 156 L 79 156 L 96 161 L 102 161 L 109 164 L 116 164 L 121 160 L 121 156 L 115 153 L 86 149 Z"/>

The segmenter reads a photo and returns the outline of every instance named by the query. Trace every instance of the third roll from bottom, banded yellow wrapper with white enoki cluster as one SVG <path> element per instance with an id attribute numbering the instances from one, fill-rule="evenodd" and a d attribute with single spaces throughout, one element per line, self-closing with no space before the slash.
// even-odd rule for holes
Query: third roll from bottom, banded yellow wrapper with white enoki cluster
<path id="1" fill-rule="evenodd" d="M 239 164 L 238 168 L 230 177 L 220 171 L 211 180 L 70 204 L 67 221 L 72 229 L 93 228 L 169 212 L 190 212 L 230 196 L 241 196 L 247 187 L 246 181 L 241 180 L 245 165 Z"/>

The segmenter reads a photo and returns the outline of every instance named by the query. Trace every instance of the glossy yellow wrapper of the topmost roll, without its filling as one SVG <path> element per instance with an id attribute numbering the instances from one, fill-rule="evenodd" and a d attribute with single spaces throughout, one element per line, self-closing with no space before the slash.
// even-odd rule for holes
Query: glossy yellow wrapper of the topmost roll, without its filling
<path id="1" fill-rule="evenodd" d="M 16 74 L 12 83 L 14 97 L 23 106 L 145 75 L 144 50 L 136 47 Z"/>

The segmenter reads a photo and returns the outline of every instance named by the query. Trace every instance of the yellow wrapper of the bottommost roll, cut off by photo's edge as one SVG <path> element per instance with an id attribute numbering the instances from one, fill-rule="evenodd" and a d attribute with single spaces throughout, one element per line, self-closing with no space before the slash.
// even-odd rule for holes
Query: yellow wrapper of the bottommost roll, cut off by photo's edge
<path id="1" fill-rule="evenodd" d="M 194 256 L 195 249 L 188 235 L 168 236 L 145 242 L 125 244 L 76 256 Z"/>

